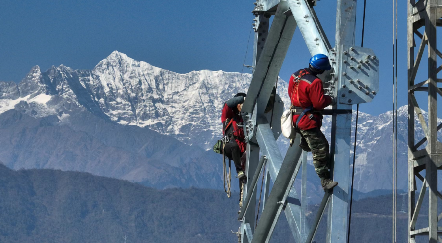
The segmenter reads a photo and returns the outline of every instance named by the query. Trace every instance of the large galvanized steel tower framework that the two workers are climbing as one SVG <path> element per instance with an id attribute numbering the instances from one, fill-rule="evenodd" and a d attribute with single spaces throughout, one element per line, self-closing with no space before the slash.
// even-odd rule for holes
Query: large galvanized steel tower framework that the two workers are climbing
<path id="1" fill-rule="evenodd" d="M 255 5 L 254 68 L 242 108 L 242 111 L 249 113 L 249 121 L 244 127 L 248 134 L 248 180 L 244 187 L 243 207 L 238 216 L 241 221 L 241 242 L 269 242 L 279 216 L 284 212 L 296 242 L 310 243 L 328 205 L 327 243 L 344 243 L 347 238 L 352 105 L 370 102 L 378 92 L 378 59 L 372 50 L 354 45 L 356 0 L 337 0 L 334 48 L 313 9 L 316 0 L 257 0 Z M 274 18 L 269 26 L 272 15 Z M 324 114 L 332 115 L 330 171 L 339 185 L 332 193 L 324 194 L 314 223 L 310 226 L 305 216 L 307 154 L 297 146 L 300 136 L 283 158 L 276 144 L 281 133 L 280 117 L 284 109 L 278 95 L 273 113 L 265 113 L 297 26 L 312 56 L 323 53 L 330 57 L 333 68 L 321 78 L 327 81 L 324 83 L 326 92 L 335 97 L 332 109 L 325 110 Z M 305 58 L 307 62 L 308 57 Z M 263 211 L 255 226 L 256 183 L 265 164 Z M 300 169 L 301 173 L 298 173 Z M 297 177 L 298 174 L 300 176 Z M 299 177 L 302 177 L 300 193 L 293 187 L 295 178 Z M 271 190 L 270 181 L 273 183 Z"/>

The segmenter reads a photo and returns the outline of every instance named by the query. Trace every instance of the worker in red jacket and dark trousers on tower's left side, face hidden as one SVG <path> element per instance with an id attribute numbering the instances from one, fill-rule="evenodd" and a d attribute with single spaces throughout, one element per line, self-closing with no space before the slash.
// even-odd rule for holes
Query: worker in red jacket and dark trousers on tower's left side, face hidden
<path id="1" fill-rule="evenodd" d="M 224 103 L 221 114 L 223 123 L 223 136 L 227 137 L 228 143 L 224 146 L 224 155 L 233 160 L 240 180 L 245 178 L 241 160 L 244 160 L 246 151 L 246 140 L 242 127 L 243 118 L 241 116 L 241 107 L 246 99 L 245 93 L 238 93 L 232 99 Z"/>

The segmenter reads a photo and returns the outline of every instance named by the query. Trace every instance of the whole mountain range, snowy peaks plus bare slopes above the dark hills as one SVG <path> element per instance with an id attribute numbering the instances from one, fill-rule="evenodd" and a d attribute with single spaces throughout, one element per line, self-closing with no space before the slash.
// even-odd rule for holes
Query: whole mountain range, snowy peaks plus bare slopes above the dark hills
<path id="1" fill-rule="evenodd" d="M 0 127 L 5 148 L 0 160 L 14 169 L 57 168 L 158 187 L 220 188 L 221 156 L 205 150 L 221 136 L 224 102 L 246 92 L 250 79 L 223 71 L 178 74 L 117 51 L 93 70 L 61 65 L 42 72 L 36 66 L 18 84 L 0 82 L 0 123 L 6 124 Z M 289 106 L 281 79 L 277 92 Z M 359 191 L 391 188 L 391 117 L 391 112 L 359 114 Z M 398 174 L 407 175 L 405 107 L 398 120 Z M 329 139 L 331 117 L 322 129 Z M 422 137 L 418 130 L 416 139 Z M 284 153 L 287 141 L 281 136 L 278 143 Z M 399 180 L 399 189 L 405 189 L 406 176 Z"/>

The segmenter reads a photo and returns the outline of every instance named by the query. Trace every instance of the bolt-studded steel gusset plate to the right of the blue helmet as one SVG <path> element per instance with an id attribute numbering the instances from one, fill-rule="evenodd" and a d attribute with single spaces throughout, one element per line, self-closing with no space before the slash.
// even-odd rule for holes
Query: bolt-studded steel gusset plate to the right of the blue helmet
<path id="1" fill-rule="evenodd" d="M 373 50 L 343 45 L 339 55 L 339 103 L 371 102 L 379 90 L 379 60 Z"/>

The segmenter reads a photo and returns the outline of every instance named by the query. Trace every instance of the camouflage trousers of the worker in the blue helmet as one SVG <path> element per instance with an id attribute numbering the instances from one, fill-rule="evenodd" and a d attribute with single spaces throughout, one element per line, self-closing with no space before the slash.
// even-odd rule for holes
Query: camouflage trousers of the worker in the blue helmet
<path id="1" fill-rule="evenodd" d="M 312 151 L 313 165 L 320 179 L 330 177 L 328 165 L 330 163 L 330 149 L 328 141 L 319 128 L 300 130 L 301 143 L 299 146 L 304 151 Z"/>

